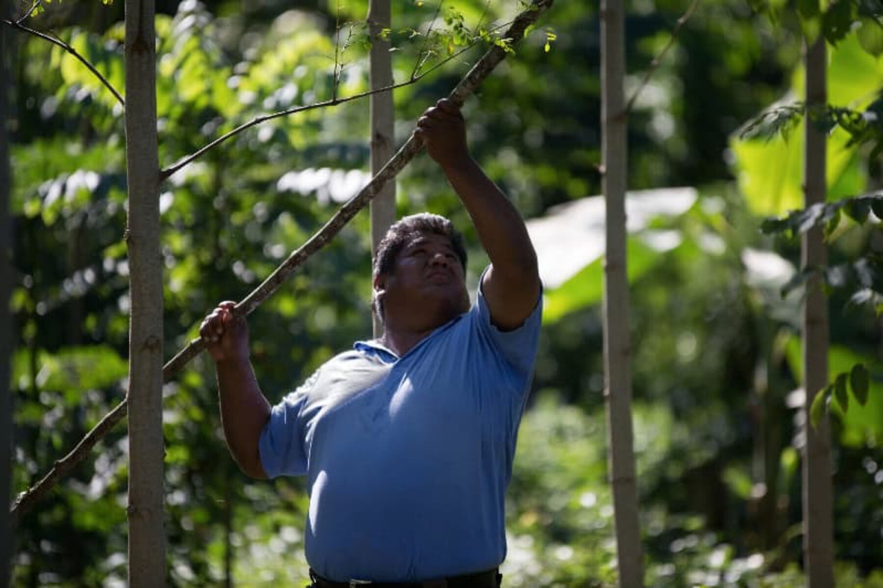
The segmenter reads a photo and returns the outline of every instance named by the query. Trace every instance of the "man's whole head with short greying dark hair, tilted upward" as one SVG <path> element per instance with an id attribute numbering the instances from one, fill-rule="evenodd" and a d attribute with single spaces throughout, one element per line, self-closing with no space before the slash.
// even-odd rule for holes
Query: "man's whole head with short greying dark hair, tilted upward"
<path id="1" fill-rule="evenodd" d="M 453 223 L 439 215 L 405 216 L 389 227 L 374 255 L 374 313 L 433 323 L 469 309 L 466 250 Z"/>

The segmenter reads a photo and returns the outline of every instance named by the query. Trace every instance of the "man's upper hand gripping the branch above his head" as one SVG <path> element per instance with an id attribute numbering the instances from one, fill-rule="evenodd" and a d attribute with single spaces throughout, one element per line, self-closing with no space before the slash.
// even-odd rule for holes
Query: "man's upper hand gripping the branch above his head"
<path id="1" fill-rule="evenodd" d="M 447 98 L 435 102 L 417 121 L 414 135 L 426 145 L 436 163 L 447 168 L 469 159 L 466 147 L 466 124 L 460 107 Z"/>

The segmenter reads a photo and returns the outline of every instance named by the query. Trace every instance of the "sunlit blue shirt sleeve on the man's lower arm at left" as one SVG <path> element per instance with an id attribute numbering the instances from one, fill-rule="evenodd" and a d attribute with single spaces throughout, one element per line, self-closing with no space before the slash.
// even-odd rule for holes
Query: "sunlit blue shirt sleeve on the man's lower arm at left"
<path id="1" fill-rule="evenodd" d="M 317 375 L 318 373 L 314 373 L 300 388 L 273 407 L 267 425 L 260 433 L 260 464 L 270 479 L 306 473 L 301 411 Z"/>

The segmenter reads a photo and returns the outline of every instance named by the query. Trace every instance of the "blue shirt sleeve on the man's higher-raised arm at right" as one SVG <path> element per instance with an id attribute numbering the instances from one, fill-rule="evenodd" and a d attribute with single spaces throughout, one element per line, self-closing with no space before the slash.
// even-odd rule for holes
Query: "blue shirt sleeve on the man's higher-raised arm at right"
<path id="1" fill-rule="evenodd" d="M 485 269 L 487 272 L 487 269 Z M 542 289 L 537 296 L 536 305 L 522 325 L 511 331 L 502 331 L 491 322 L 491 311 L 483 291 L 484 273 L 479 278 L 479 294 L 472 309 L 476 313 L 478 328 L 493 343 L 494 347 L 519 372 L 532 372 L 533 362 L 537 355 L 540 342 L 540 323 L 542 322 Z"/>

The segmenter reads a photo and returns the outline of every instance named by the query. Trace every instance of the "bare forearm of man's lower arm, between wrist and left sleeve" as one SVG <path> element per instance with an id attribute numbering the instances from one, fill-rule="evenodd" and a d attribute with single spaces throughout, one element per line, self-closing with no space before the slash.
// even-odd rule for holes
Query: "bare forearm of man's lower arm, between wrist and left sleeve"
<path id="1" fill-rule="evenodd" d="M 270 405 L 261 394 L 247 358 L 216 364 L 223 433 L 230 453 L 242 471 L 253 478 L 266 478 L 260 464 L 260 432 L 270 416 Z"/>

